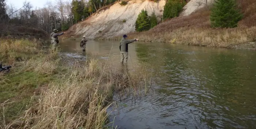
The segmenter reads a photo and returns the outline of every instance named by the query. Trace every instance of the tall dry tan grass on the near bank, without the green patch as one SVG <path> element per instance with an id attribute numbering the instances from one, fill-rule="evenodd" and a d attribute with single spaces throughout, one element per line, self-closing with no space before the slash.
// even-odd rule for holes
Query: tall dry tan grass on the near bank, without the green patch
<path id="1" fill-rule="evenodd" d="M 14 43 L 19 42 L 22 43 Z M 27 46 L 28 49 L 34 50 L 33 43 L 29 43 L 31 48 Z M 9 53 L 11 51 L 5 52 L 7 57 L 12 54 Z M 22 49 L 20 52 L 23 53 Z M 20 116 L 15 116 L 15 120 L 8 120 L 5 113 L 10 101 L 2 102 L 0 129 L 106 128 L 106 109 L 111 104 L 114 91 L 138 96 L 137 90 L 148 90 L 153 84 L 153 78 L 146 68 L 128 72 L 126 66 L 114 69 L 108 61 L 95 59 L 70 66 L 57 52 L 45 54 L 38 51 L 36 55 L 15 61 L 14 64 L 16 68 L 12 70 L 36 72 L 53 80 L 37 89 L 39 94 L 31 96 L 30 104 L 26 105 L 26 110 Z M 8 79 L 6 77 L 0 76 L 1 80 Z"/>

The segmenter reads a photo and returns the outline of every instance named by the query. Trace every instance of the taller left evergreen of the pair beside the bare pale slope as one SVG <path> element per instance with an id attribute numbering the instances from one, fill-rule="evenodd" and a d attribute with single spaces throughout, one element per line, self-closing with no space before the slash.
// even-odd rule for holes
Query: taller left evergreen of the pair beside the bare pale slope
<path id="1" fill-rule="evenodd" d="M 148 17 L 146 10 L 143 9 L 138 15 L 138 18 L 135 23 L 135 29 L 139 32 L 147 31 L 150 29 L 150 19 Z"/>

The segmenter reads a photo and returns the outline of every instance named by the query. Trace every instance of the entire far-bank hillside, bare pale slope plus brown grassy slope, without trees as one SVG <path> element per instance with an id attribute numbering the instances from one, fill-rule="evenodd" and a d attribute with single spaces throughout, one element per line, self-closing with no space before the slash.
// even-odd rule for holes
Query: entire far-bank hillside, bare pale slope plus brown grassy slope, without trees
<path id="1" fill-rule="evenodd" d="M 213 0 L 207 3 L 205 0 L 190 0 L 179 17 L 161 23 L 165 0 L 159 3 L 131 0 L 125 6 L 116 3 L 73 25 L 65 37 L 86 35 L 89 39 L 120 40 L 128 33 L 130 38 L 141 41 L 256 49 L 256 43 L 252 42 L 256 37 L 256 0 L 237 0 L 243 18 L 237 28 L 228 29 L 211 28 L 212 4 Z M 142 9 L 146 9 L 149 15 L 155 11 L 160 24 L 139 33 L 135 32 L 135 21 Z"/>

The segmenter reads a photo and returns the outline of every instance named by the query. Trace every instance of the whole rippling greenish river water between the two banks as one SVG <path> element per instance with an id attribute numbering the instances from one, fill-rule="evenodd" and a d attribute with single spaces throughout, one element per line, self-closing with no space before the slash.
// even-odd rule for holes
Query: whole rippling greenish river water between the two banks
<path id="1" fill-rule="evenodd" d="M 79 40 L 60 47 L 80 61 L 97 55 L 120 64 L 119 41 L 88 41 L 86 52 Z M 136 103 L 127 98 L 109 108 L 114 128 L 256 128 L 255 51 L 135 42 L 128 57 L 128 66 L 150 65 L 158 83 Z"/>

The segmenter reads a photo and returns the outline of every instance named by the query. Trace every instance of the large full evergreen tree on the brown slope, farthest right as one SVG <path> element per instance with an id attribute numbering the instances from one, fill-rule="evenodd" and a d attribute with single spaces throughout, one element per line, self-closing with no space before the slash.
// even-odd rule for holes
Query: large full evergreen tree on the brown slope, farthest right
<path id="1" fill-rule="evenodd" d="M 235 0 L 217 0 L 211 11 L 211 26 L 215 28 L 234 28 L 242 19 Z"/>

